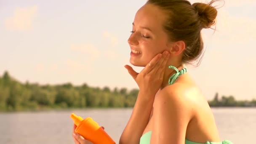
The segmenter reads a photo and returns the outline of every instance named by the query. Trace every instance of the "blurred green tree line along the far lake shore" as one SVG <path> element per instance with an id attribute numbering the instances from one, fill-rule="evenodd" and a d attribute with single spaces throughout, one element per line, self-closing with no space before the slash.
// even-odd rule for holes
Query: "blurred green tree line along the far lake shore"
<path id="1" fill-rule="evenodd" d="M 64 83 L 61 85 L 39 85 L 38 83 L 20 83 L 8 72 L 0 77 L 0 111 L 24 111 L 44 109 L 65 109 L 85 107 L 133 107 L 139 93 L 138 89 L 90 87 L 86 83 L 80 86 Z M 256 106 L 256 100 L 236 101 L 233 96 L 218 93 L 211 107 L 247 107 Z"/>

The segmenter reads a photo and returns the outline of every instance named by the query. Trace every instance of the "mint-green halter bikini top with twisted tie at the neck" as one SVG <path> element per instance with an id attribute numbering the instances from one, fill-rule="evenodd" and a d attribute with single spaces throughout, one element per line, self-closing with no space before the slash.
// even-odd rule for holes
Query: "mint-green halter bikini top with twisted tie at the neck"
<path id="1" fill-rule="evenodd" d="M 180 71 L 173 66 L 169 66 L 168 68 L 170 69 L 174 69 L 176 71 L 175 74 L 173 74 L 170 78 L 169 78 L 169 85 L 173 84 L 175 82 L 175 80 L 180 76 L 183 75 L 184 73 L 187 72 L 186 68 L 182 68 Z M 140 139 L 140 143 L 139 144 L 150 144 L 150 139 L 151 139 L 151 133 L 152 131 L 148 131 L 147 133 L 144 133 L 144 135 L 141 136 Z M 185 144 L 203 144 L 203 143 L 197 143 L 197 142 L 193 142 L 193 141 L 189 141 L 187 139 L 185 139 Z M 232 144 L 231 141 L 222 141 L 222 142 L 205 142 L 205 144 Z"/>

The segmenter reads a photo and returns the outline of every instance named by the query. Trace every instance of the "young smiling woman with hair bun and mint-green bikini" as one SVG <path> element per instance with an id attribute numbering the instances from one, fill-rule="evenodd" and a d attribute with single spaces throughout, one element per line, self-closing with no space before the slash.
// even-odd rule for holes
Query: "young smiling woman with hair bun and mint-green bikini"
<path id="1" fill-rule="evenodd" d="M 148 0 L 136 13 L 130 63 L 145 68 L 125 66 L 139 95 L 119 144 L 232 144 L 220 140 L 211 108 L 184 67 L 203 51 L 201 30 L 215 24 L 216 1 Z"/>

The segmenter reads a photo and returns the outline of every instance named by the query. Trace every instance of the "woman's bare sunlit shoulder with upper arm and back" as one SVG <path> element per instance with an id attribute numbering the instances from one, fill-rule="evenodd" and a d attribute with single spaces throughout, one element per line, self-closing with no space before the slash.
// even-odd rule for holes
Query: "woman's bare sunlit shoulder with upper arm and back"
<path id="1" fill-rule="evenodd" d="M 155 135 L 158 133 L 166 136 L 168 140 L 172 136 L 173 143 L 178 143 L 175 140 L 184 137 L 193 141 L 218 140 L 218 131 L 208 102 L 200 88 L 189 79 L 179 79 L 158 91 L 153 108 L 155 123 L 152 130 L 158 130 Z M 184 144 L 184 141 L 179 143 Z"/>

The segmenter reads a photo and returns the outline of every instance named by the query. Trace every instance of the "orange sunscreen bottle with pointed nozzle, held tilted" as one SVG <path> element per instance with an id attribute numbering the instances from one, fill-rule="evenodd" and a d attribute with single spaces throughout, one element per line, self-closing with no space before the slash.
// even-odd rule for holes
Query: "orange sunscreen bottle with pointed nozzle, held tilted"
<path id="1" fill-rule="evenodd" d="M 115 144 L 115 141 L 91 117 L 83 119 L 74 113 L 70 117 L 75 125 L 77 125 L 75 132 L 88 141 L 91 141 L 93 144 Z"/>

